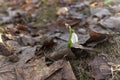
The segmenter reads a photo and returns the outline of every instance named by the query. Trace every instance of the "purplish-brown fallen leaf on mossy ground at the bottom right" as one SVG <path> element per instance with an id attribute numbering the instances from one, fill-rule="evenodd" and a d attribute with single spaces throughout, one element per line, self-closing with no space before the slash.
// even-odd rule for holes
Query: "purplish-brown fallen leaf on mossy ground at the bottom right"
<path id="1" fill-rule="evenodd" d="M 92 62 L 89 63 L 91 66 L 91 76 L 95 78 L 95 80 L 106 79 L 110 76 L 111 67 L 102 57 L 95 57 Z"/>

